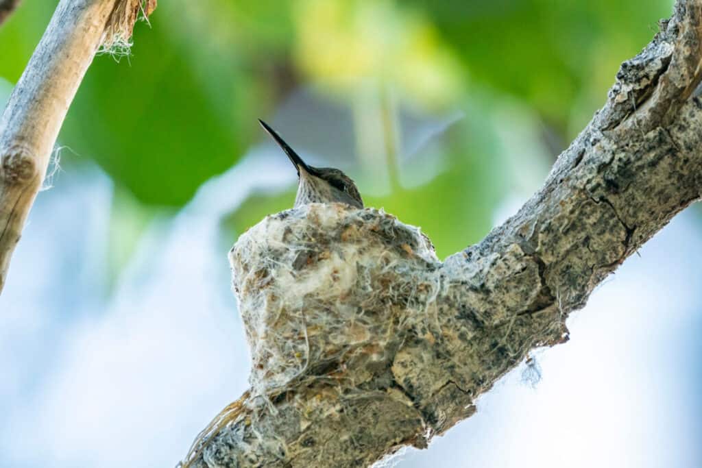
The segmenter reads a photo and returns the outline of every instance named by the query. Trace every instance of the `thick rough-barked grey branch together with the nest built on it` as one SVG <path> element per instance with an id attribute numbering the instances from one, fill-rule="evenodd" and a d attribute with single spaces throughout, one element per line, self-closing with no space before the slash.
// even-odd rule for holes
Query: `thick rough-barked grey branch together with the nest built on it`
<path id="1" fill-rule="evenodd" d="M 242 235 L 251 389 L 183 466 L 361 467 L 425 448 L 531 349 L 566 341 L 569 313 L 701 196 L 701 22 L 702 0 L 677 1 L 541 190 L 444 262 L 370 208 L 312 204 Z"/>

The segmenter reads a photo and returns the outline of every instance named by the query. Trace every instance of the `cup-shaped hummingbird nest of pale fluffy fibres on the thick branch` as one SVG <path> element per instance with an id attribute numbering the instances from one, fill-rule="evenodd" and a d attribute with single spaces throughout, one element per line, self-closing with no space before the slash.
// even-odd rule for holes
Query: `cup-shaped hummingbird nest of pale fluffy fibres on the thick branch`
<path id="1" fill-rule="evenodd" d="M 310 203 L 267 216 L 229 255 L 251 349 L 251 396 L 307 380 L 362 386 L 387 372 L 396 331 L 439 292 L 430 240 L 383 210 Z"/>

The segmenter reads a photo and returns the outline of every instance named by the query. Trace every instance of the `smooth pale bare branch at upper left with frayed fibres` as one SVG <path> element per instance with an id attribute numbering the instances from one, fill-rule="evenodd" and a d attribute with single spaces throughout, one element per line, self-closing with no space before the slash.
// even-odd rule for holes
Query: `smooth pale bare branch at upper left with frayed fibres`
<path id="1" fill-rule="evenodd" d="M 155 0 L 62 0 L 0 119 L 0 293 L 68 107 L 100 46 L 131 36 Z"/>

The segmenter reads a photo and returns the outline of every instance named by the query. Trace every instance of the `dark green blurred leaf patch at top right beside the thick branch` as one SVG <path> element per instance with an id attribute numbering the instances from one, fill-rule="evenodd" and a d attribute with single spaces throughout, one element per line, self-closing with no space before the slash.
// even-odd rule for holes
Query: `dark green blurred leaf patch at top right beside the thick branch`
<path id="1" fill-rule="evenodd" d="M 599 105 L 619 63 L 648 43 L 658 31 L 657 20 L 670 15 L 673 1 L 409 4 L 430 15 L 475 79 L 526 100 L 550 123 L 565 128 L 574 102 L 581 99 L 578 94 L 590 95 Z"/>

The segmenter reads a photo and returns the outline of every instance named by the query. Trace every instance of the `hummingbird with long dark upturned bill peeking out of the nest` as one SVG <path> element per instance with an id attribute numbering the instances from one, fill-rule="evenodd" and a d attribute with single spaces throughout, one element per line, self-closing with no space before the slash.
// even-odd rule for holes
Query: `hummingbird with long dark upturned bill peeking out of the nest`
<path id="1" fill-rule="evenodd" d="M 293 208 L 308 203 L 346 203 L 354 208 L 363 208 L 363 200 L 351 178 L 335 168 L 316 168 L 305 163 L 298 154 L 263 120 L 261 126 L 282 148 L 298 171 L 298 194 Z"/>

